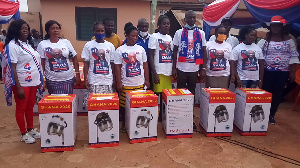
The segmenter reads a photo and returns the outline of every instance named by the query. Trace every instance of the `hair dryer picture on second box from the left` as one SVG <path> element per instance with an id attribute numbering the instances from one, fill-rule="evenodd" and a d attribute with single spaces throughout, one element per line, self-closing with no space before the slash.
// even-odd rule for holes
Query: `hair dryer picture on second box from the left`
<path id="1" fill-rule="evenodd" d="M 98 130 L 100 129 L 101 132 L 110 131 L 111 129 L 113 129 L 113 123 L 112 123 L 112 120 L 109 117 L 108 113 L 101 112 L 96 116 L 94 124 L 96 124 L 96 126 L 97 126 L 97 143 L 99 143 Z M 113 137 L 112 137 L 112 139 L 113 139 Z"/>

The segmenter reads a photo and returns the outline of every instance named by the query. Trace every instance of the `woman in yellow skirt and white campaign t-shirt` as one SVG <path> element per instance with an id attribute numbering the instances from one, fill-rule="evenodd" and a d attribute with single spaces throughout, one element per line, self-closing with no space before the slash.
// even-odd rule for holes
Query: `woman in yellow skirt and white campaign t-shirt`
<path id="1" fill-rule="evenodd" d="M 172 37 L 168 35 L 170 20 L 167 16 L 161 15 L 158 18 L 157 26 L 159 32 L 151 35 L 149 40 L 149 64 L 153 75 L 153 91 L 160 95 L 162 102 L 162 89 L 172 89 Z M 162 109 L 162 103 L 160 103 Z M 162 113 L 159 113 L 161 121 Z"/>

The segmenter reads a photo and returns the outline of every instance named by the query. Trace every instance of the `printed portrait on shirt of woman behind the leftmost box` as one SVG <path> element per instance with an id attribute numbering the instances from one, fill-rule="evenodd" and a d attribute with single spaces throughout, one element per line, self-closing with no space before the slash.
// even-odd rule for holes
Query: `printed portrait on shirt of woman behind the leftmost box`
<path id="1" fill-rule="evenodd" d="M 49 59 L 50 71 L 62 72 L 69 70 L 67 58 L 63 56 L 61 49 L 48 47 L 46 48 L 46 56 Z"/>

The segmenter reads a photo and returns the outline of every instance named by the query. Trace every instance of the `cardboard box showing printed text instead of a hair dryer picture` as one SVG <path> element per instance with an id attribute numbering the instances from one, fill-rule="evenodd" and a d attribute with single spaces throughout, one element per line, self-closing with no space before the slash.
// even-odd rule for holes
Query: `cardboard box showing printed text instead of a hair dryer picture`
<path id="1" fill-rule="evenodd" d="M 194 95 L 187 89 L 164 89 L 162 124 L 167 139 L 193 136 Z"/>

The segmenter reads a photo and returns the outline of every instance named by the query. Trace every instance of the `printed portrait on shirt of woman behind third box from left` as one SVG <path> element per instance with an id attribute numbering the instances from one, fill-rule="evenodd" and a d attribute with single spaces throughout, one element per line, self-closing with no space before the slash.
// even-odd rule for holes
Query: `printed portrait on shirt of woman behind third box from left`
<path id="1" fill-rule="evenodd" d="M 141 75 L 141 66 L 140 62 L 136 58 L 136 53 L 122 53 L 122 57 L 126 63 L 126 77 Z"/>

